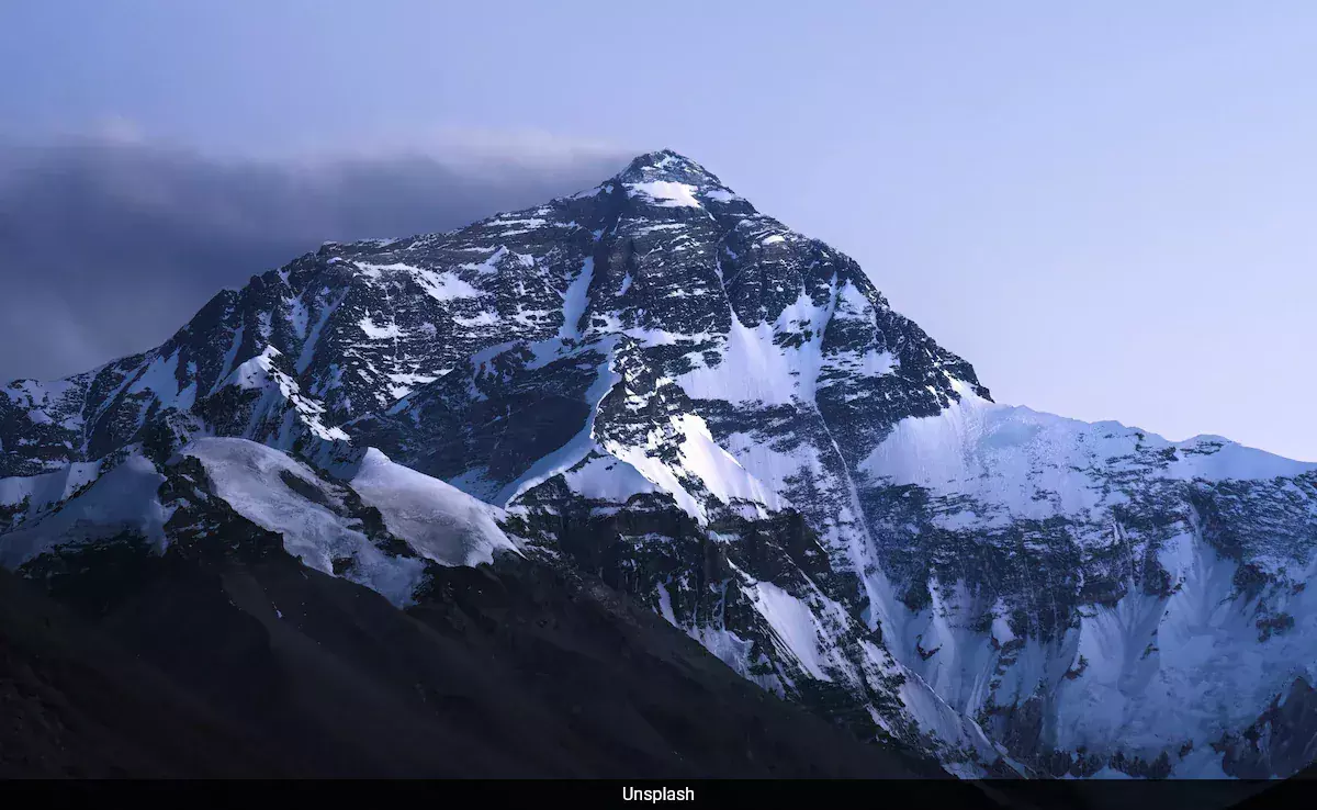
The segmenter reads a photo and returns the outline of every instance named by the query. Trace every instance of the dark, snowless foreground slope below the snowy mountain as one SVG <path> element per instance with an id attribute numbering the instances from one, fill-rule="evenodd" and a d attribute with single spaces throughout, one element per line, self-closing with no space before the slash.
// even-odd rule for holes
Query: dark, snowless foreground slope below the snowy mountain
<path id="1" fill-rule="evenodd" d="M 939 774 L 544 566 L 449 569 L 403 612 L 236 515 L 211 527 L 162 556 L 122 540 L 47 561 L 66 606 L 0 572 L 0 773 Z"/>

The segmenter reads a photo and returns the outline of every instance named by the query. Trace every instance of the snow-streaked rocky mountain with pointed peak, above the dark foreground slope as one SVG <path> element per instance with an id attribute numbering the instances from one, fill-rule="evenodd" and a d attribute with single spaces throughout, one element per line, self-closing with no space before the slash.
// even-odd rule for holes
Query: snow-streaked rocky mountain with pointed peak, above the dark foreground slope
<path id="1" fill-rule="evenodd" d="M 219 499 L 396 605 L 433 565 L 552 560 L 961 774 L 1317 759 L 1317 465 L 996 404 L 852 259 L 672 151 L 325 244 L 4 392 L 20 570 L 213 532 Z"/>

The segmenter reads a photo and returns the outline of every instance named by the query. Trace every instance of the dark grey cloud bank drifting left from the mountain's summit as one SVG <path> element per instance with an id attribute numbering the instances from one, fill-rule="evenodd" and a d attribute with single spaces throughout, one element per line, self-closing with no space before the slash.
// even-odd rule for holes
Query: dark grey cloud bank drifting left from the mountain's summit
<path id="1" fill-rule="evenodd" d="M 104 142 L 0 149 L 0 381 L 167 338 L 223 287 L 325 240 L 446 230 L 587 188 L 620 153 L 221 161 Z"/>

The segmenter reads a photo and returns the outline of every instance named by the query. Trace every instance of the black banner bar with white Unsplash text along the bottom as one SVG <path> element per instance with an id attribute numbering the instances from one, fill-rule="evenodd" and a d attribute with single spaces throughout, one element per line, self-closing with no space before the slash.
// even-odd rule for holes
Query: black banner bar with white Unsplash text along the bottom
<path id="1" fill-rule="evenodd" d="M 801 810 L 1260 810 L 1317 807 L 1317 780 L 399 780 L 399 781 L 8 781 L 0 803 L 159 801 L 237 806 L 259 802 L 489 802 L 533 807 L 799 807 Z"/>

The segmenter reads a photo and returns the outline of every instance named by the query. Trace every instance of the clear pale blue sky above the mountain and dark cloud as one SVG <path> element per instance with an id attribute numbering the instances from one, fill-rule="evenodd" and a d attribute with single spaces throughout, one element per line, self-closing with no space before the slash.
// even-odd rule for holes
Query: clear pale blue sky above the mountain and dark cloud
<path id="1" fill-rule="evenodd" d="M 1317 5 L 1080 5 L 5 4 L 0 138 L 541 186 L 673 148 L 1002 402 L 1317 460 Z"/>

